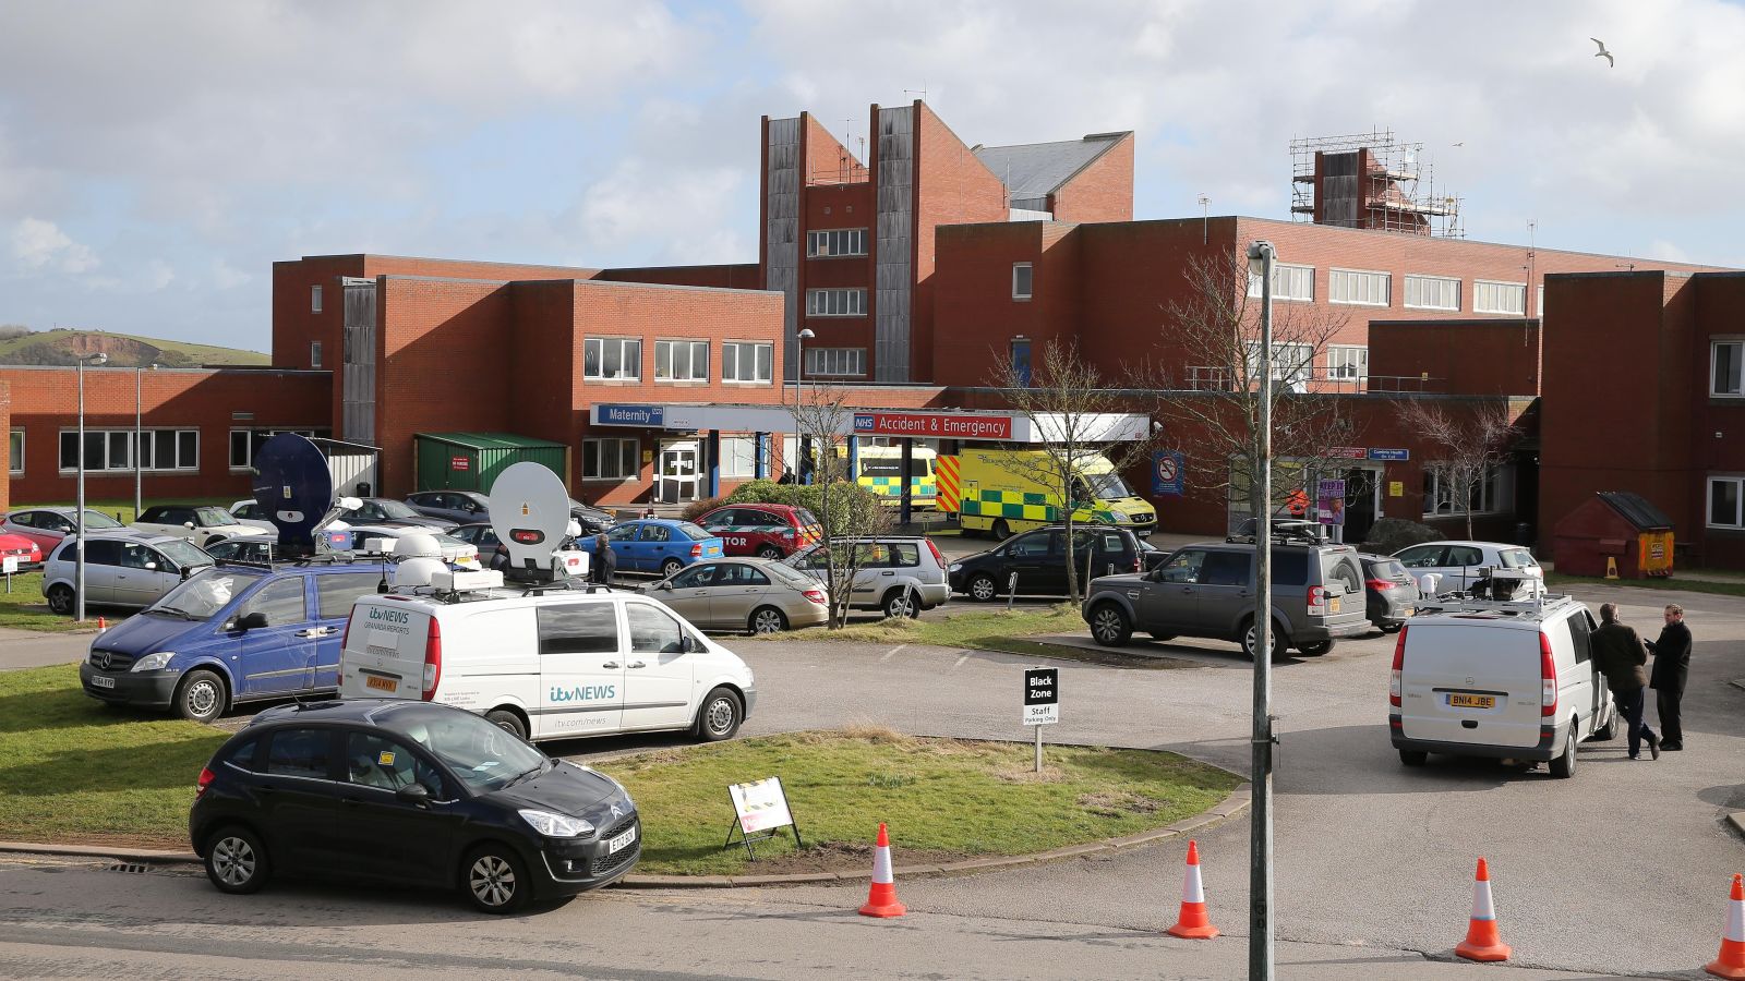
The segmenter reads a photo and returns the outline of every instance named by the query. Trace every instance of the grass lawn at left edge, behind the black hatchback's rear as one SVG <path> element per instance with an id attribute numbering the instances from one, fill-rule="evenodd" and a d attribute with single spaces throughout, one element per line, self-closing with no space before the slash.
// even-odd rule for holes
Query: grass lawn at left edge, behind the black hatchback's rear
<path id="1" fill-rule="evenodd" d="M 187 848 L 194 782 L 227 737 L 106 709 L 79 665 L 0 672 L 0 838 Z"/>

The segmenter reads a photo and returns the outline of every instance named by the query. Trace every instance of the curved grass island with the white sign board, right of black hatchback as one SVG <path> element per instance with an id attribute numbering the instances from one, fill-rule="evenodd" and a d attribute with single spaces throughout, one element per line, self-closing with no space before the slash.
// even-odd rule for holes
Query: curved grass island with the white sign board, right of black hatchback
<path id="1" fill-rule="evenodd" d="M 871 869 L 878 824 L 895 864 L 1021 855 L 1134 834 L 1199 813 L 1241 779 L 1173 752 L 916 738 L 876 728 L 743 738 L 612 759 L 644 820 L 647 875 Z M 806 848 L 735 843 L 728 784 L 780 777 Z"/>

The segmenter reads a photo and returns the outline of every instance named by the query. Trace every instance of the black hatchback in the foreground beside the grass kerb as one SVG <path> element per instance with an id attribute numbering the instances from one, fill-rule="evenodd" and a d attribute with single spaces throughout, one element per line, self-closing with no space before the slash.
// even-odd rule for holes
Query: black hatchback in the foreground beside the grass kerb
<path id="1" fill-rule="evenodd" d="M 188 838 L 222 892 L 368 880 L 459 888 L 485 913 L 609 885 L 642 854 L 618 780 L 471 712 L 405 700 L 255 716 L 201 770 Z"/>

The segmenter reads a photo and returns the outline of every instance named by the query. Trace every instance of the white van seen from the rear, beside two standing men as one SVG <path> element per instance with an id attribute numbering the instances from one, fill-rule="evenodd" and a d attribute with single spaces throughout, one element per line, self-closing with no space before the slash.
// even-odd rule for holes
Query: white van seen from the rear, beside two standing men
<path id="1" fill-rule="evenodd" d="M 1394 642 L 1387 728 L 1399 761 L 1488 756 L 1576 773 L 1576 744 L 1618 731 L 1618 709 L 1595 669 L 1593 616 L 1567 595 L 1440 597 L 1420 604 Z"/>

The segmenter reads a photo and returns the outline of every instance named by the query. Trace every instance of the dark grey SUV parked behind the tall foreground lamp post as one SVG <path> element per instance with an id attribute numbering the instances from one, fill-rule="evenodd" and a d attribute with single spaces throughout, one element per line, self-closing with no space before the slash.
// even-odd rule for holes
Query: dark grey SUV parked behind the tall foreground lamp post
<path id="1" fill-rule="evenodd" d="M 1150 573 L 1101 576 L 1085 593 L 1084 618 L 1099 644 L 1119 648 L 1145 630 L 1171 637 L 1222 637 L 1255 656 L 1255 545 L 1208 541 L 1178 548 Z M 1321 656 L 1337 637 L 1370 628 L 1363 567 L 1349 545 L 1276 539 L 1272 545 L 1272 656 L 1286 648 Z"/>

